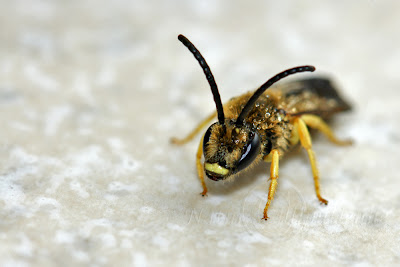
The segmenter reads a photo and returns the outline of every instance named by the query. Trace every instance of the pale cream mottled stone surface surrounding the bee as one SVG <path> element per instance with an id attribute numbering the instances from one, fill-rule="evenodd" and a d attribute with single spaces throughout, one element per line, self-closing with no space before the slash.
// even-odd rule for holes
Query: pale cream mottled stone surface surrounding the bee
<path id="1" fill-rule="evenodd" d="M 0 1 L 0 265 L 394 265 L 400 260 L 400 2 Z M 230 183 L 169 144 L 223 101 L 313 64 L 354 111 Z M 300 76 L 300 75 L 299 75 Z"/>

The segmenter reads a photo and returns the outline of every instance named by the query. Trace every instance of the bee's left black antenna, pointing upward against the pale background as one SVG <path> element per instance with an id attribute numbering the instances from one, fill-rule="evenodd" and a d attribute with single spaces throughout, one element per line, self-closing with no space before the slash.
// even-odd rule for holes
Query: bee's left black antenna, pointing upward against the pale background
<path id="1" fill-rule="evenodd" d="M 199 50 L 197 50 L 197 48 L 189 41 L 188 38 L 186 38 L 182 34 L 179 34 L 178 40 L 181 41 L 182 44 L 184 44 L 190 52 L 192 52 L 193 56 L 197 59 L 201 68 L 203 69 L 207 81 L 210 84 L 211 92 L 214 96 L 214 102 L 217 107 L 218 121 L 221 125 L 223 125 L 225 123 L 224 108 L 222 107 L 221 97 L 218 92 L 218 86 L 215 82 L 214 76 L 211 73 L 210 67 L 208 66 L 204 57 L 200 54 Z"/>

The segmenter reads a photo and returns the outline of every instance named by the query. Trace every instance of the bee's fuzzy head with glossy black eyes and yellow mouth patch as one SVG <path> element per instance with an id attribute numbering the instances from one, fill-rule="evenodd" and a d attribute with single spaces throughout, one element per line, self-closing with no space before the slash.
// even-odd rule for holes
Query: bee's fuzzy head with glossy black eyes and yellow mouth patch
<path id="1" fill-rule="evenodd" d="M 248 167 L 260 153 L 256 131 L 233 121 L 211 125 L 204 135 L 204 170 L 208 178 L 224 180 Z"/>

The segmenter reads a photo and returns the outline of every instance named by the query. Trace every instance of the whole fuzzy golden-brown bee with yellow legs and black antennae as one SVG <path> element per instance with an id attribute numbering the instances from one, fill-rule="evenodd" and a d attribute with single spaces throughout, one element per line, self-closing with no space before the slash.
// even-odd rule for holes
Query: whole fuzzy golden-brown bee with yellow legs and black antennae
<path id="1" fill-rule="evenodd" d="M 321 131 L 336 145 L 352 143 L 351 140 L 338 139 L 325 122 L 332 115 L 351 108 L 332 83 L 326 78 L 306 78 L 274 85 L 289 75 L 315 70 L 310 65 L 299 66 L 276 74 L 254 92 L 234 97 L 222 105 L 217 84 L 205 59 L 185 36 L 179 35 L 178 39 L 203 69 L 216 104 L 216 112 L 187 137 L 171 139 L 174 144 L 187 143 L 217 117 L 218 121 L 211 124 L 201 138 L 196 154 L 198 176 L 203 187 L 201 194 L 207 194 L 204 173 L 211 180 L 221 181 L 262 160 L 270 162 L 268 200 L 262 218 L 267 220 L 268 208 L 278 184 L 279 160 L 300 143 L 308 154 L 317 198 L 327 205 L 328 201 L 320 192 L 320 176 L 308 128 Z M 204 164 L 201 164 L 203 154 Z"/>

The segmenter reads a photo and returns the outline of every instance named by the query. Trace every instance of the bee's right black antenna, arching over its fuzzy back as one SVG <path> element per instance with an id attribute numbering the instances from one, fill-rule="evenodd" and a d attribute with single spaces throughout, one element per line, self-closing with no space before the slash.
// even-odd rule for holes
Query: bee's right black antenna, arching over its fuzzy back
<path id="1" fill-rule="evenodd" d="M 270 88 L 274 83 L 279 81 L 280 79 L 283 79 L 289 75 L 299 73 L 299 72 L 305 72 L 305 71 L 310 71 L 313 72 L 315 70 L 314 66 L 310 65 L 305 65 L 305 66 L 299 66 L 291 69 L 287 69 L 285 71 L 282 71 L 281 73 L 276 74 L 274 77 L 266 81 L 263 85 L 260 86 L 260 88 L 255 91 L 255 93 L 250 97 L 250 99 L 247 101 L 246 105 L 242 109 L 242 112 L 240 113 L 239 117 L 236 120 L 236 125 L 242 125 L 244 118 L 246 118 L 247 114 L 250 112 L 250 110 L 253 108 L 254 103 L 257 101 L 257 99 L 268 89 Z"/>

